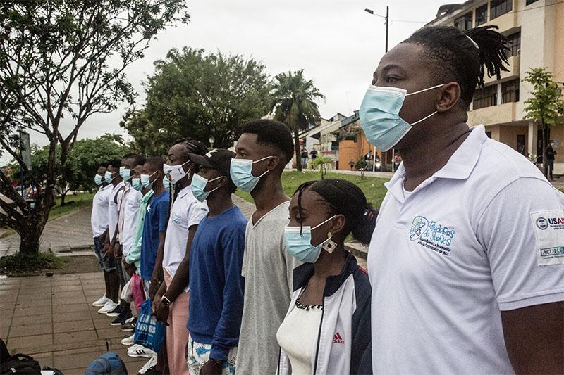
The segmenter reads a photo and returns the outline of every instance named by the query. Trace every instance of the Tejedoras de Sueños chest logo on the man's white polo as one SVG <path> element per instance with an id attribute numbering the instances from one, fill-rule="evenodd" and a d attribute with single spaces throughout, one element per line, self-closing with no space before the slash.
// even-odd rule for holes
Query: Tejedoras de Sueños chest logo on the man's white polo
<path id="1" fill-rule="evenodd" d="M 452 227 L 439 224 L 424 216 L 414 217 L 411 223 L 410 241 L 417 241 L 417 245 L 429 248 L 441 255 L 450 254 L 450 245 L 454 236 L 455 230 Z"/>

